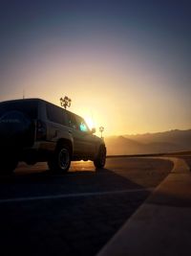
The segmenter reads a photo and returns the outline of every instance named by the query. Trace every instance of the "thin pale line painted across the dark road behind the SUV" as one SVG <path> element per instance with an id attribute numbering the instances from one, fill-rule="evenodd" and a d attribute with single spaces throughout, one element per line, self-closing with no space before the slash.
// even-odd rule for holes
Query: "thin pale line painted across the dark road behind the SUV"
<path id="1" fill-rule="evenodd" d="M 117 191 L 104 191 L 104 192 L 88 192 L 88 193 L 74 193 L 74 194 L 61 194 L 61 195 L 50 195 L 41 197 L 29 197 L 29 198 L 7 198 L 0 199 L 0 203 L 4 202 L 19 202 L 19 201 L 33 201 L 33 200 L 44 200 L 44 199 L 57 199 L 57 198 L 84 198 L 93 196 L 107 196 L 107 195 L 117 195 L 124 193 L 137 193 L 142 191 L 153 191 L 154 188 L 144 188 L 144 189 L 132 189 L 132 190 L 117 190 Z"/>

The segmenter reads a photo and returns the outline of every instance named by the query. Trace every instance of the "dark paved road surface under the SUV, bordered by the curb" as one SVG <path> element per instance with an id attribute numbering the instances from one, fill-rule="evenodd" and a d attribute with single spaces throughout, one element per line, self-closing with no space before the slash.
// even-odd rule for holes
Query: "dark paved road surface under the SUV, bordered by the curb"
<path id="1" fill-rule="evenodd" d="M 67 175 L 21 164 L 0 177 L 1 255 L 96 255 L 169 174 L 152 158 L 108 158 L 104 170 L 74 162 Z"/>

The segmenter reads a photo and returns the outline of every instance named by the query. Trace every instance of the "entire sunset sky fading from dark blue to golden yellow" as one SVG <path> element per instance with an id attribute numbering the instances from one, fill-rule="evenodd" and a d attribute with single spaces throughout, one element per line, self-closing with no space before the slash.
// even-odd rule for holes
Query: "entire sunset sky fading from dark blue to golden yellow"
<path id="1" fill-rule="evenodd" d="M 42 98 L 105 135 L 191 128 L 191 3 L 1 0 L 0 101 Z"/>

